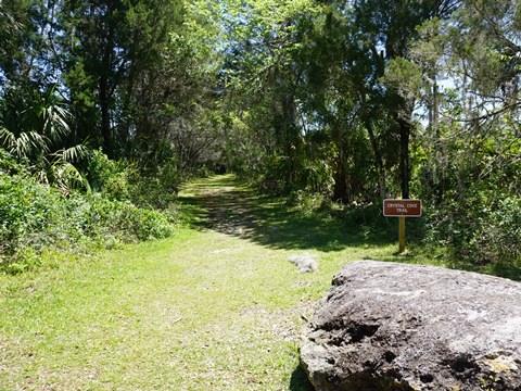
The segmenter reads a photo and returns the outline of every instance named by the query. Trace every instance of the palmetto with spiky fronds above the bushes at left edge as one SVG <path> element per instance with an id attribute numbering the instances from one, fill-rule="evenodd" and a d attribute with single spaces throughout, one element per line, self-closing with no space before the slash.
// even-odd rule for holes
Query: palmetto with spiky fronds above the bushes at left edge
<path id="1" fill-rule="evenodd" d="M 78 144 L 64 147 L 71 134 L 71 114 L 55 89 L 12 88 L 0 102 L 0 147 L 30 164 L 42 182 L 58 185 L 64 192 L 87 181 L 73 165 L 88 150 Z"/>

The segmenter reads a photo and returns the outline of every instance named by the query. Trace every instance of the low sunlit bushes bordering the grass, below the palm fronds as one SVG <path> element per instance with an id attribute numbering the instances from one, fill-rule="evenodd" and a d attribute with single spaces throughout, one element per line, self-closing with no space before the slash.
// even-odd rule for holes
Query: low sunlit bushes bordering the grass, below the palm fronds
<path id="1" fill-rule="evenodd" d="M 174 234 L 171 213 L 114 199 L 122 192 L 113 190 L 65 197 L 27 175 L 0 171 L 0 270 L 15 274 L 36 267 L 48 249 L 111 248 Z"/>

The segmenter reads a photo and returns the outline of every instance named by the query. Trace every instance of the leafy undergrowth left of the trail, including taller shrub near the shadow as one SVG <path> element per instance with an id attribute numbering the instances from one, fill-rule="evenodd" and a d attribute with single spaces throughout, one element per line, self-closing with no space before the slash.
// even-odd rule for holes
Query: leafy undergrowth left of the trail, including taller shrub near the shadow
<path id="1" fill-rule="evenodd" d="M 92 164 L 94 162 L 94 164 Z M 92 252 L 120 243 L 161 239 L 176 230 L 176 213 L 144 202 L 149 186 L 132 185 L 124 165 L 94 152 L 96 189 L 81 192 L 41 184 L 5 152 L 0 155 L 0 273 L 40 266 L 50 254 Z M 154 189 L 155 191 L 152 191 Z M 140 191 L 141 190 L 141 191 Z M 140 198 L 134 202 L 132 194 Z M 155 206 L 155 207 L 154 207 Z"/>

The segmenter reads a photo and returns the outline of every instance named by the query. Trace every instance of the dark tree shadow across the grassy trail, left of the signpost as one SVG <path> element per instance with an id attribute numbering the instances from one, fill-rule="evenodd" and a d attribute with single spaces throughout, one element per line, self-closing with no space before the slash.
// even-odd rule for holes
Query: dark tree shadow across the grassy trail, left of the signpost
<path id="1" fill-rule="evenodd" d="M 219 180 L 219 178 L 223 178 Z M 346 247 L 386 245 L 390 236 L 332 218 L 327 213 L 302 214 L 283 200 L 255 195 L 233 177 L 193 184 L 195 197 L 179 197 L 195 228 L 213 229 L 275 249 L 340 251 Z"/>

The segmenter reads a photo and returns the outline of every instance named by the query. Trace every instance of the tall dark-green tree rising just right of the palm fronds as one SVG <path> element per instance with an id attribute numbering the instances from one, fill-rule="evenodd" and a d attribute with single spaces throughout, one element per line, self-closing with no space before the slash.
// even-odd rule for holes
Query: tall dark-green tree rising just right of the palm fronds
<path id="1" fill-rule="evenodd" d="M 136 129 L 151 131 L 148 127 L 156 110 L 149 114 L 145 104 L 150 101 L 141 98 L 162 83 L 156 70 L 164 70 L 165 54 L 169 54 L 165 48 L 170 47 L 181 21 L 182 3 L 177 0 L 71 1 L 62 5 L 61 53 L 71 99 L 78 112 L 90 116 L 82 122 L 98 124 L 94 139 L 100 138 L 110 156 L 120 151 Z M 148 85 L 152 87 L 147 89 Z M 82 106 L 91 106 L 92 100 L 97 110 L 85 112 Z M 82 133 L 87 136 L 88 129 Z"/>

